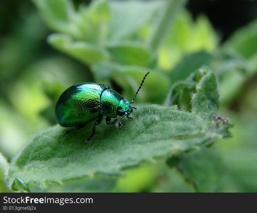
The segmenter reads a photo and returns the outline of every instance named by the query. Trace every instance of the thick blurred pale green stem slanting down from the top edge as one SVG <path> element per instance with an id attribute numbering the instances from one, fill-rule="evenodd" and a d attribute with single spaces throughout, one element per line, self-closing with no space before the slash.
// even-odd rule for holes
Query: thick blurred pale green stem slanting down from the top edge
<path id="1" fill-rule="evenodd" d="M 152 32 L 147 39 L 147 44 L 153 49 L 157 49 L 160 42 L 164 39 L 167 30 L 171 27 L 171 23 L 187 0 L 167 0 L 164 7 L 159 10 Z"/>

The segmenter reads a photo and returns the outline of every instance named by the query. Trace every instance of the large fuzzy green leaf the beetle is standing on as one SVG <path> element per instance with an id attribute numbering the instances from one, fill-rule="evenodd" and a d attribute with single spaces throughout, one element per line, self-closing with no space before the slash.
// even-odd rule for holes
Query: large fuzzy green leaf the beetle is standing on
<path id="1" fill-rule="evenodd" d="M 227 131 L 218 121 L 203 121 L 176 106 L 141 106 L 133 112 L 133 120 L 122 123 L 119 130 L 102 122 L 87 146 L 92 123 L 65 137 L 65 129 L 58 125 L 38 132 L 13 158 L 6 177 L 9 186 L 28 191 L 32 183 L 44 187 L 95 174 L 118 175 L 141 162 L 199 150 Z"/>

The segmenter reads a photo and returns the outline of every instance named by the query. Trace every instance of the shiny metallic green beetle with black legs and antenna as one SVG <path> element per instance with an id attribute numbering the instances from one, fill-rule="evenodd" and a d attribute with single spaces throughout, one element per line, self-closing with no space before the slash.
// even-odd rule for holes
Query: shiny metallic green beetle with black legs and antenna
<path id="1" fill-rule="evenodd" d="M 63 136 L 96 120 L 92 134 L 86 140 L 86 144 L 94 136 L 95 126 L 101 123 L 103 116 L 106 116 L 107 124 L 116 123 L 117 128 L 121 128 L 121 119 L 125 116 L 131 118 L 129 115 L 133 109 L 136 109 L 136 107 L 131 107 L 130 104 L 134 102 L 149 73 L 150 71 L 145 74 L 131 102 L 124 99 L 109 86 L 100 83 L 81 83 L 65 90 L 55 107 L 55 115 L 60 126 L 72 127 Z M 121 117 L 118 119 L 116 118 L 117 115 Z M 115 119 L 111 122 L 111 118 Z"/>

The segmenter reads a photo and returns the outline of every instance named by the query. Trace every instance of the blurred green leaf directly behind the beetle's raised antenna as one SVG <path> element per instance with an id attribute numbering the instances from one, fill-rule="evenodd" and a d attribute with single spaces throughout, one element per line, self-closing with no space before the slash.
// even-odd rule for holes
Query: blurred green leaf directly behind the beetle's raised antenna
<path id="1" fill-rule="evenodd" d="M 161 104 L 166 97 L 163 91 L 169 88 L 169 79 L 164 73 L 148 67 L 122 66 L 113 63 L 98 63 L 92 67 L 94 77 L 99 83 L 110 85 L 110 80 L 105 79 L 107 77 L 113 79 L 116 85 L 122 88 L 120 93 L 125 99 L 133 98 L 147 71 L 151 71 L 151 75 L 147 76 L 147 81 L 140 89 L 136 101 Z"/>

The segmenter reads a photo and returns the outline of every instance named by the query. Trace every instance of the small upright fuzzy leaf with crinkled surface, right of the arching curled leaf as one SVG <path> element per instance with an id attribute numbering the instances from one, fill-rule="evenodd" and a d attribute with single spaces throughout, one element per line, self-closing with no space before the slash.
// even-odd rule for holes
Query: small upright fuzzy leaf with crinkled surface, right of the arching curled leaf
<path id="1" fill-rule="evenodd" d="M 206 120 L 212 120 L 218 111 L 219 93 L 216 75 L 207 72 L 196 85 L 192 96 L 192 112 Z"/>

